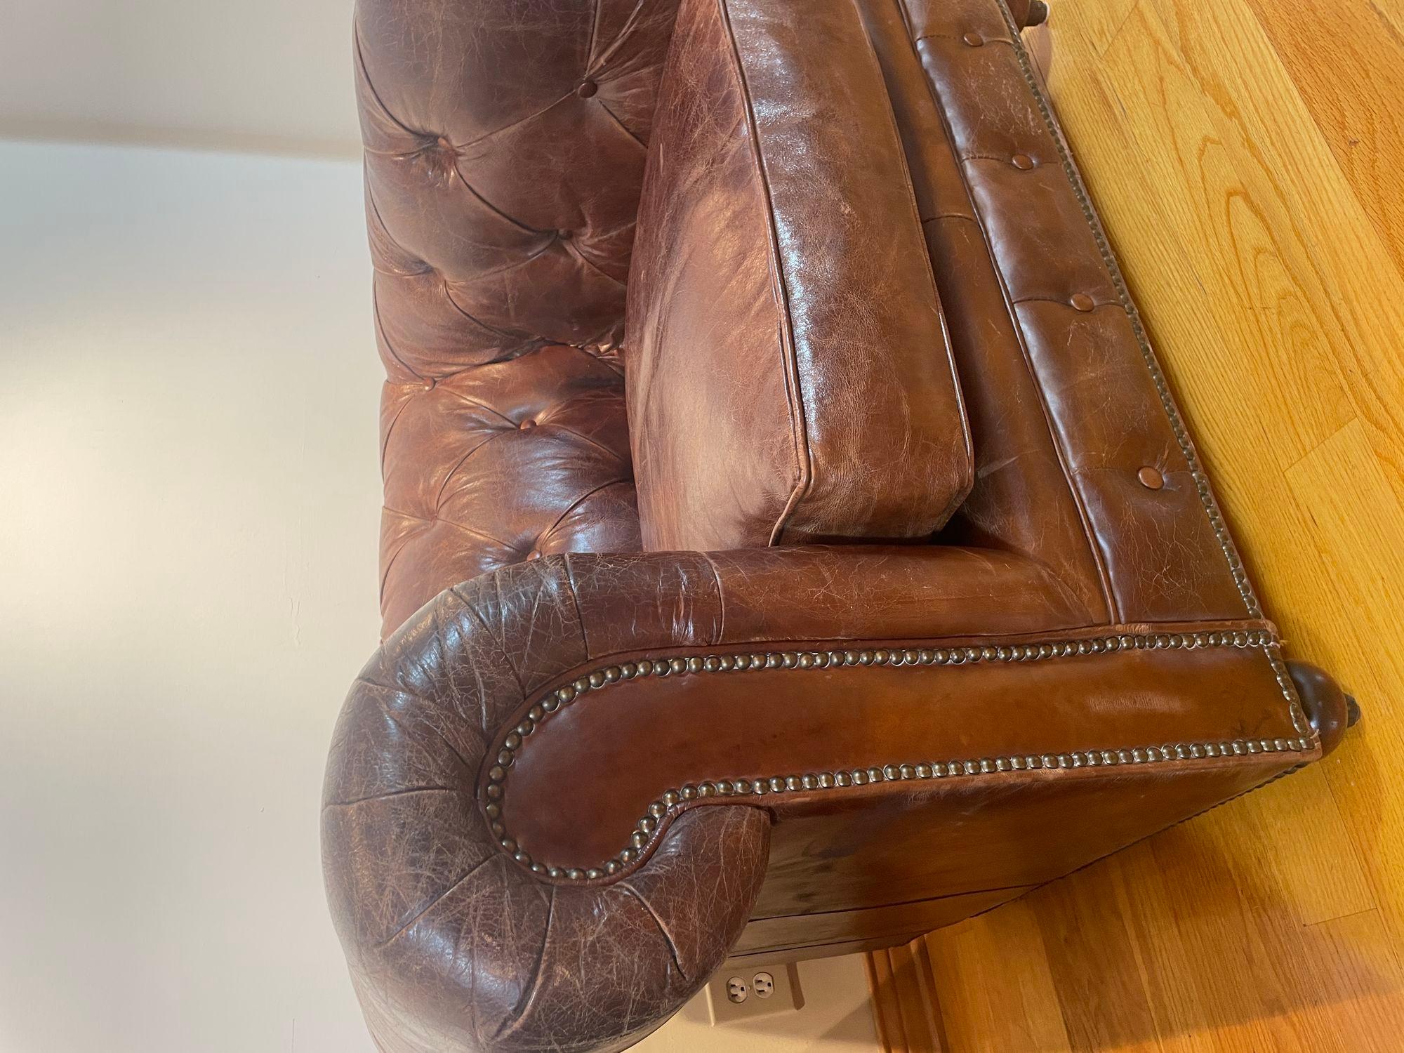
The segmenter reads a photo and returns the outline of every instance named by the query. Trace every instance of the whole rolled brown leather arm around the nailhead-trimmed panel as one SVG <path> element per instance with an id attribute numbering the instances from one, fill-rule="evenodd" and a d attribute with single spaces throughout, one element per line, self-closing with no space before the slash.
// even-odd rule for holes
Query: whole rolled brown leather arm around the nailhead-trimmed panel
<path id="1" fill-rule="evenodd" d="M 482 772 L 563 677 L 639 649 L 1081 621 L 1035 564 L 943 548 L 555 556 L 445 591 L 364 670 L 326 776 L 329 899 L 380 1049 L 622 1049 L 750 915 L 769 830 L 755 804 L 684 812 L 642 865 L 595 882 L 501 844 Z"/>

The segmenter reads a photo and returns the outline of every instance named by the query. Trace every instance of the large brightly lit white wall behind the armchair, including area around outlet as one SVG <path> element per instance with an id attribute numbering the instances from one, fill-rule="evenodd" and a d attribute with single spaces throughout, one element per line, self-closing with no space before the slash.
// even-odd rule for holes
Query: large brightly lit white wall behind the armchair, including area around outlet
<path id="1" fill-rule="evenodd" d="M 355 1053 L 331 723 L 375 647 L 354 161 L 0 142 L 0 1053 Z M 654 1053 L 875 1047 L 809 1008 Z"/>

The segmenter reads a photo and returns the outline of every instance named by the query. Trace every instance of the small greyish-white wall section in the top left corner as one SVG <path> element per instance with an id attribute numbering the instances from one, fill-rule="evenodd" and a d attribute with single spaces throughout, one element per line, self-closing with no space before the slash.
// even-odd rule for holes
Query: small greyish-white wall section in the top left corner
<path id="1" fill-rule="evenodd" d="M 0 136 L 358 156 L 352 0 L 0 0 Z"/>

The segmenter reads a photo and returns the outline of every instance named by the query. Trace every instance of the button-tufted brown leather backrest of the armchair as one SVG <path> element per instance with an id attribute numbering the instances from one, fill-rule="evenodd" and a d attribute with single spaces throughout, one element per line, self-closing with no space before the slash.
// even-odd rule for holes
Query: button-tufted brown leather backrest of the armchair
<path id="1" fill-rule="evenodd" d="M 359 0 L 386 630 L 532 553 L 636 549 L 618 343 L 675 0 Z"/>

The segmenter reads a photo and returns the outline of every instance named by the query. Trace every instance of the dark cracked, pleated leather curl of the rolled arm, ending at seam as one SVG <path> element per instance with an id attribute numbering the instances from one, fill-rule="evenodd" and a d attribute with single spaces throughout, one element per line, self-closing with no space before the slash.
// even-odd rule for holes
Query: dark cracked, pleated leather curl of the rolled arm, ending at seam
<path id="1" fill-rule="evenodd" d="M 642 637 L 685 632 L 673 608 L 660 588 Z M 347 701 L 323 863 L 386 1053 L 622 1049 L 706 981 L 746 924 L 765 872 L 761 810 L 685 816 L 643 868 L 598 889 L 538 880 L 487 828 L 484 750 L 528 692 L 585 660 L 587 636 L 564 560 L 519 564 L 425 607 Z"/>

